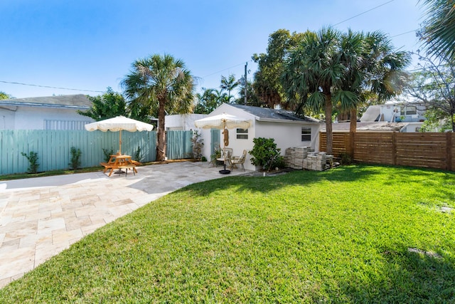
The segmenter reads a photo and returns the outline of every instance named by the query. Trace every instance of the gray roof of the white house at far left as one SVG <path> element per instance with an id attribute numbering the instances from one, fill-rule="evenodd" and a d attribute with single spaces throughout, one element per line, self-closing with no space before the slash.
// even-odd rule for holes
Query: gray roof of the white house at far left
<path id="1" fill-rule="evenodd" d="M 42 108 L 72 108 L 77 110 L 87 110 L 92 106 L 92 102 L 86 95 L 60 95 L 48 97 L 13 98 L 0 100 L 0 105 L 15 105 Z"/>

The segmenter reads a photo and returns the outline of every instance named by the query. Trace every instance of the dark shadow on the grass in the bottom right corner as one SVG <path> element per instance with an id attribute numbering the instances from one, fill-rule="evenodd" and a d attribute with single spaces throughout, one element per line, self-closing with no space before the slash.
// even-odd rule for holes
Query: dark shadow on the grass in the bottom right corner
<path id="1" fill-rule="evenodd" d="M 362 284 L 353 278 L 341 286 L 352 303 L 455 303 L 453 259 L 416 248 L 382 255 L 387 263 L 381 280 Z"/>

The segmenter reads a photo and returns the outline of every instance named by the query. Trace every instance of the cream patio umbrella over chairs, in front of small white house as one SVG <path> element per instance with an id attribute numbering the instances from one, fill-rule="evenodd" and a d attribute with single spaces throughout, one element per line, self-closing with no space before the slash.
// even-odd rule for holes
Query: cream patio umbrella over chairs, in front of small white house
<path id="1" fill-rule="evenodd" d="M 235 115 L 223 113 L 220 115 L 208 116 L 203 119 L 196 120 L 194 122 L 194 125 L 196 125 L 196 127 L 200 127 L 203 129 L 225 130 L 225 129 L 234 129 L 237 127 L 242 128 L 242 129 L 247 129 L 250 127 L 251 122 L 250 122 L 250 120 L 245 120 L 244 118 L 237 117 Z M 226 146 L 228 145 L 227 142 L 228 142 L 228 132 L 225 132 L 225 140 L 224 140 L 224 145 L 223 145 L 223 154 L 224 155 L 226 155 Z M 225 164 L 225 169 L 220 171 L 220 173 L 223 173 L 223 174 L 226 174 L 229 172 L 230 172 L 229 170 L 226 170 L 226 164 Z"/>

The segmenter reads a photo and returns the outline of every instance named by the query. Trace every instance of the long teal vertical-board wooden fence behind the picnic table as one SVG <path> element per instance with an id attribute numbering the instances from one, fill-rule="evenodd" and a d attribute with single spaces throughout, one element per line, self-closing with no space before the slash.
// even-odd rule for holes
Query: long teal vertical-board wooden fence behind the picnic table
<path id="1" fill-rule="evenodd" d="M 167 138 L 168 159 L 188 157 L 192 151 L 191 131 L 173 131 Z M 178 133 L 181 134 L 178 134 Z M 21 152 L 38 153 L 38 171 L 67 169 L 70 167 L 70 149 L 80 149 L 80 167 L 95 167 L 103 162 L 107 151 L 119 149 L 119 132 L 87 132 L 85 130 L 0 130 L 0 174 L 27 172 L 29 163 Z M 140 161 L 152 162 L 156 159 L 156 132 L 122 132 L 122 153 L 135 156 L 140 147 Z"/>

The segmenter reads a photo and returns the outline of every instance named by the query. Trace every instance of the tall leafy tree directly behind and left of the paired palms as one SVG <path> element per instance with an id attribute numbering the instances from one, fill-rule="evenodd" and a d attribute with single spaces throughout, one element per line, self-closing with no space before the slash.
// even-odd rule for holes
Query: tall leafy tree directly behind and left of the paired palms
<path id="1" fill-rule="evenodd" d="M 252 60 L 257 63 L 253 88 L 267 108 L 274 108 L 274 105 L 293 108 L 293 105 L 287 103 L 280 77 L 284 72 L 284 61 L 289 56 L 289 50 L 297 46 L 303 36 L 303 33 L 289 33 L 288 30 L 279 29 L 270 34 L 267 53 L 255 53 L 252 56 Z"/>

